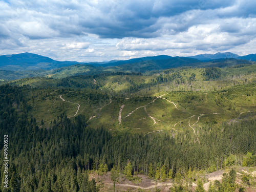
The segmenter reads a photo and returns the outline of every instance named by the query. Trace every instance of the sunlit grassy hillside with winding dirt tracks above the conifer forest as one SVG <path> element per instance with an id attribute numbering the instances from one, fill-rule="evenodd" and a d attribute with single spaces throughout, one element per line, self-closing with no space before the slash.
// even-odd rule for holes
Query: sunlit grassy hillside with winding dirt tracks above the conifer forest
<path id="1" fill-rule="evenodd" d="M 177 68 L 151 76 L 118 72 L 25 78 L 9 84 L 40 88 L 33 91 L 36 100 L 27 99 L 35 103 L 34 116 L 44 122 L 56 119 L 63 106 L 68 117 L 84 115 L 92 127 L 108 125 L 112 130 L 138 133 L 196 132 L 204 123 L 255 118 L 255 68 Z"/>

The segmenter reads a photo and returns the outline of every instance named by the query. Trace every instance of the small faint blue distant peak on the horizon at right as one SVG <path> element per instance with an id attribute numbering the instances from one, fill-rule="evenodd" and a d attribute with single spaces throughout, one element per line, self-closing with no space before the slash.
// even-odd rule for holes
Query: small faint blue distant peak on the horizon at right
<path id="1" fill-rule="evenodd" d="M 234 53 L 226 52 L 226 53 L 216 53 L 212 54 L 201 54 L 195 56 L 189 56 L 191 58 L 199 59 L 199 60 L 213 60 L 213 59 L 220 59 L 220 58 L 239 58 L 240 56 Z"/>

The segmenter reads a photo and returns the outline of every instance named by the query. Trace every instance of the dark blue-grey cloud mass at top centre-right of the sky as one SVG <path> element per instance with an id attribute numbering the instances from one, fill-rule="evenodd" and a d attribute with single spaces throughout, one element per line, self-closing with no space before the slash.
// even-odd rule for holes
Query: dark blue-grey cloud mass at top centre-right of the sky
<path id="1" fill-rule="evenodd" d="M 150 38 L 161 35 L 157 33 L 163 27 L 157 25 L 161 18 L 176 24 L 171 30 L 180 32 L 191 25 L 189 17 L 195 14 L 192 10 L 217 9 L 231 5 L 231 2 L 221 1 L 124 1 L 116 4 L 109 12 L 104 12 L 104 17 L 98 16 L 93 23 L 87 18 L 81 19 L 81 25 L 101 38 Z M 98 13 L 103 12 L 99 9 Z"/>

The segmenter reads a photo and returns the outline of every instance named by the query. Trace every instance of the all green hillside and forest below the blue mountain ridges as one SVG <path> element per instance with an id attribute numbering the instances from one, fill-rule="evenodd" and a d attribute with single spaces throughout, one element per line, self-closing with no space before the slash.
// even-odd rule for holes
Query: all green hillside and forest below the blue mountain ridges
<path id="1" fill-rule="evenodd" d="M 0 148 L 3 156 L 8 134 L 9 190 L 99 191 L 89 174 L 111 171 L 114 183 L 139 183 L 144 174 L 172 179 L 171 191 L 189 191 L 193 182 L 204 191 L 199 172 L 256 165 L 254 65 L 150 73 L 2 81 Z M 246 174 L 237 185 L 236 176 L 231 169 L 210 191 L 254 186 Z"/>

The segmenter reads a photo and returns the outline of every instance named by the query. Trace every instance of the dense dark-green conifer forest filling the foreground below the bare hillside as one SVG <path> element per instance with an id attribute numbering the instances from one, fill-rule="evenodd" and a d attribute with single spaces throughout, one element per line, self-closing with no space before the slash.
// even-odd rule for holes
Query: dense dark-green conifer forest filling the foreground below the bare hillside
<path id="1" fill-rule="evenodd" d="M 197 135 L 187 130 L 177 135 L 144 135 L 113 133 L 109 127 L 92 129 L 85 116 L 69 119 L 62 113 L 46 129 L 40 128 L 44 121 L 39 124 L 40 119 L 30 113 L 29 91 L 26 86 L 0 87 L 1 157 L 4 135 L 8 135 L 10 160 L 9 188 L 1 183 L 1 191 L 98 191 L 95 180 L 89 181 L 91 170 L 112 170 L 128 178 L 141 173 L 165 180 L 202 169 L 214 172 L 230 165 L 256 165 L 255 156 L 243 160 L 247 152 L 256 153 L 256 120 L 209 123 Z M 4 175 L 2 165 L 1 180 Z M 179 187 L 173 190 L 185 190 Z"/>

